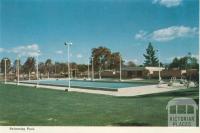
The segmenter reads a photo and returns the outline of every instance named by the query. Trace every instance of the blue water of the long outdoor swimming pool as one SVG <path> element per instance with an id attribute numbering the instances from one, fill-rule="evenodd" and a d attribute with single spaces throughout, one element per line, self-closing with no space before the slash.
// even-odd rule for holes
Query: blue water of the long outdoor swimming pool
<path id="1" fill-rule="evenodd" d="M 36 84 L 37 80 L 22 81 L 22 83 L 32 83 Z M 69 86 L 69 82 L 66 79 L 59 80 L 39 80 L 41 85 L 53 85 L 53 86 Z M 88 80 L 71 80 L 71 87 L 74 88 L 92 88 L 92 89 L 121 89 L 127 87 L 137 87 L 148 85 L 147 83 L 137 83 L 137 82 L 104 82 L 104 81 L 88 81 Z"/>

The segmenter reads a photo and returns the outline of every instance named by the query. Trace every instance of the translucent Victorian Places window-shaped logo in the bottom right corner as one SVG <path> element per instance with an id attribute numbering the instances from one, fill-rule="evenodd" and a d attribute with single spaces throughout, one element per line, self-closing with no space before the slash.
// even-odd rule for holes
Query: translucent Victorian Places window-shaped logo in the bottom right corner
<path id="1" fill-rule="evenodd" d="M 191 98 L 174 98 L 166 106 L 168 126 L 196 126 L 198 106 Z"/>

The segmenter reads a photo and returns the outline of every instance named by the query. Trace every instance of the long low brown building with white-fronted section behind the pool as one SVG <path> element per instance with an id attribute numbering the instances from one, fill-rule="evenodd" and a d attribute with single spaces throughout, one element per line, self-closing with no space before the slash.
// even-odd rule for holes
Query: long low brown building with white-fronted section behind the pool
<path id="1" fill-rule="evenodd" d="M 159 71 L 162 78 L 176 77 L 197 77 L 198 70 L 190 69 L 190 70 L 179 70 L 179 69 L 165 69 L 163 67 L 122 67 L 122 78 L 124 79 L 132 79 L 132 78 L 158 78 Z M 119 78 L 120 72 L 113 70 L 104 70 L 101 73 L 103 78 Z M 98 74 L 96 73 L 96 78 L 98 78 Z"/>

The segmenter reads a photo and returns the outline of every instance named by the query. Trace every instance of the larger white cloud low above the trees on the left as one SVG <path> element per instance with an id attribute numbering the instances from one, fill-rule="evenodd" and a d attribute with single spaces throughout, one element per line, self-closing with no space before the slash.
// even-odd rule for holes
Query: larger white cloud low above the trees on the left
<path id="1" fill-rule="evenodd" d="M 18 54 L 19 56 L 38 56 L 40 55 L 39 46 L 37 44 L 19 46 L 13 48 L 11 52 Z"/>

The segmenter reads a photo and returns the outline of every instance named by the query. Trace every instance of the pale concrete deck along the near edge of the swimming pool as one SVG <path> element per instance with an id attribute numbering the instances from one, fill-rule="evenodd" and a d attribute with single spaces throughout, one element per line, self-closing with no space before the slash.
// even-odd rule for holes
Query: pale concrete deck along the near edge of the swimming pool
<path id="1" fill-rule="evenodd" d="M 7 82 L 7 84 L 16 85 L 15 82 Z M 36 87 L 36 84 L 26 84 L 20 83 L 20 86 L 30 86 Z M 51 86 L 51 85 L 38 85 L 37 88 L 47 88 L 47 89 L 54 89 L 54 90 L 65 90 L 68 87 L 60 87 L 60 86 Z M 68 92 L 81 92 L 81 93 L 91 93 L 91 94 L 103 94 L 103 95 L 110 95 L 110 96 L 139 96 L 139 95 L 147 95 L 147 94 L 154 94 L 154 93 L 162 93 L 162 92 L 169 92 L 179 89 L 186 89 L 186 87 L 180 85 L 176 87 L 168 86 L 167 84 L 162 84 L 161 86 L 158 85 L 145 85 L 145 86 L 137 86 L 137 87 L 128 87 L 128 88 L 121 88 L 117 89 L 117 91 L 105 91 L 105 90 L 93 90 L 93 89 L 81 89 L 81 88 L 70 88 Z M 67 92 L 66 92 L 67 93 Z"/>

